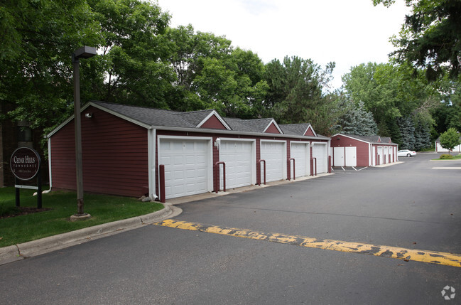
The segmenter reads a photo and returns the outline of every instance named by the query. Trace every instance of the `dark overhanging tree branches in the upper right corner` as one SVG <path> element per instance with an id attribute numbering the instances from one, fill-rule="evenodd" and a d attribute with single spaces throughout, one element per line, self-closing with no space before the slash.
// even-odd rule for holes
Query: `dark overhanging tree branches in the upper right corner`
<path id="1" fill-rule="evenodd" d="M 373 4 L 390 6 L 394 0 L 373 0 Z M 398 48 L 392 55 L 399 63 L 424 68 L 428 80 L 444 74 L 448 65 L 450 77 L 461 72 L 461 1 L 406 0 L 411 14 L 406 16 L 399 37 L 392 42 Z"/>

